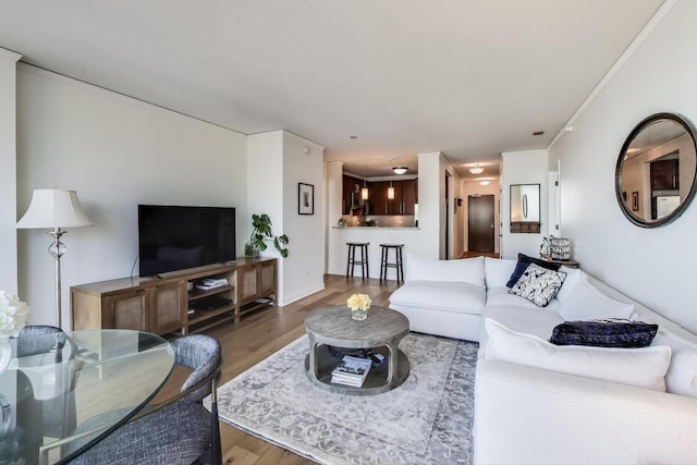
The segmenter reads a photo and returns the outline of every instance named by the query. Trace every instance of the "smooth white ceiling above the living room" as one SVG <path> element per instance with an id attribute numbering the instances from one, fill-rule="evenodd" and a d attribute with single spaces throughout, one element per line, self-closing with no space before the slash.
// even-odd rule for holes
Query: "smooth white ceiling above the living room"
<path id="1" fill-rule="evenodd" d="M 245 134 L 288 130 L 347 171 L 442 151 L 482 178 L 501 151 L 546 148 L 661 3 L 0 0 L 0 47 Z"/>

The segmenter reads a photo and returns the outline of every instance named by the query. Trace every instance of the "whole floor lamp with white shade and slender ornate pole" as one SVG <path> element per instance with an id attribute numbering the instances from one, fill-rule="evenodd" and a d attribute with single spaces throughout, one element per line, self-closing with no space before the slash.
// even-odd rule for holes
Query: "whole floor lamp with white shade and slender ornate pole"
<path id="1" fill-rule="evenodd" d="M 61 257 L 65 253 L 65 246 L 61 236 L 65 234 L 65 228 L 91 227 L 94 223 L 87 218 L 75 191 L 61 191 L 57 188 L 34 189 L 32 204 L 22 219 L 17 222 L 17 229 L 48 229 L 53 236 L 53 243 L 48 252 L 56 259 L 56 323 L 62 328 L 61 313 Z"/>

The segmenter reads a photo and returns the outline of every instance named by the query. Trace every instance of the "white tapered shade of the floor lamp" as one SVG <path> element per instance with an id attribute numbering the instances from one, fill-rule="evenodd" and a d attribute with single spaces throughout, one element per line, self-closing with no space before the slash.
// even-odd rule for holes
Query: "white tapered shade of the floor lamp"
<path id="1" fill-rule="evenodd" d="M 32 204 L 20 221 L 17 229 L 78 228 L 94 223 L 83 211 L 75 191 L 37 188 Z"/>

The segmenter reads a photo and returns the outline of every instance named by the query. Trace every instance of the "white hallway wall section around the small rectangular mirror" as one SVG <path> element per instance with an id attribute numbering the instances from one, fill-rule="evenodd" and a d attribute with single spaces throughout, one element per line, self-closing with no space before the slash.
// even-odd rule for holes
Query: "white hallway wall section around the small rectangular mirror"
<path id="1" fill-rule="evenodd" d="M 518 253 L 539 255 L 542 237 L 549 235 L 547 150 L 501 154 L 501 258 L 516 258 Z M 540 233 L 511 233 L 511 184 L 540 185 Z"/>

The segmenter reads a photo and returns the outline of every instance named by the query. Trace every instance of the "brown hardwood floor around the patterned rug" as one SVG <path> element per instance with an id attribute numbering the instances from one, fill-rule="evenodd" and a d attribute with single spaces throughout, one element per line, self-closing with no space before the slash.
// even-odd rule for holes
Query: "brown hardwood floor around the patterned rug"
<path id="1" fill-rule="evenodd" d="M 396 281 L 380 283 L 378 279 L 362 280 L 328 274 L 325 290 L 284 307 L 265 308 L 242 318 L 237 325 L 222 323 L 207 332 L 222 345 L 222 386 L 247 368 L 261 362 L 290 342 L 305 333 L 305 317 L 311 311 L 329 305 L 345 305 L 351 294 L 368 294 L 372 305 L 387 307 L 390 294 L 398 289 Z M 178 369 L 161 395 L 176 392 L 186 376 Z M 313 464 L 284 449 L 246 435 L 236 428 L 220 423 L 223 463 L 235 465 Z"/>

